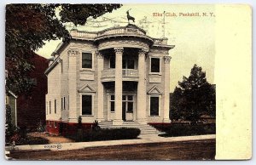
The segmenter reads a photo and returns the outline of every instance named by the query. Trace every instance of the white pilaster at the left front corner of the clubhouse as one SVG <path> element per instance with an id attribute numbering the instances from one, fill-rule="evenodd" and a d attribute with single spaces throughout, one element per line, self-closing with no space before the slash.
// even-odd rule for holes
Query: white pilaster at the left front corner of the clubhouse
<path id="1" fill-rule="evenodd" d="M 69 116 L 68 122 L 78 122 L 77 117 L 77 56 L 79 51 L 68 51 L 68 93 L 69 93 Z M 54 103 L 52 104 L 54 105 Z"/>

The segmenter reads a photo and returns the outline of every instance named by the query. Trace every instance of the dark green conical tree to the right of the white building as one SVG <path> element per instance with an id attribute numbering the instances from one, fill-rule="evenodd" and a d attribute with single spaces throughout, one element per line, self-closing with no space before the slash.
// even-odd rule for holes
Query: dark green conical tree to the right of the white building
<path id="1" fill-rule="evenodd" d="M 215 117 L 215 86 L 207 83 L 206 72 L 194 65 L 189 77 L 178 82 L 170 99 L 171 119 L 197 122 L 201 115 Z"/>

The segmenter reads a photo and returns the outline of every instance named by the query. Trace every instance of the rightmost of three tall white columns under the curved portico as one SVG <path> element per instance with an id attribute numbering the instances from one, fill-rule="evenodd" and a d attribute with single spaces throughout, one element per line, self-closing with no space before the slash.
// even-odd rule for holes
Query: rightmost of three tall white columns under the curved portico
<path id="1" fill-rule="evenodd" d="M 145 81 L 145 54 L 142 49 L 138 53 L 138 83 L 137 83 L 137 121 L 146 123 L 146 81 Z"/>

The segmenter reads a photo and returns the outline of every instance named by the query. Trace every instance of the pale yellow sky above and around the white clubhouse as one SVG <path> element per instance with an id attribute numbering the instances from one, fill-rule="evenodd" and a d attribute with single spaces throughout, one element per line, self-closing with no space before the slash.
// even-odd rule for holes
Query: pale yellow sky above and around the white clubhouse
<path id="1" fill-rule="evenodd" d="M 84 26 L 77 28 L 85 31 L 101 31 L 108 27 L 126 26 L 126 11 L 129 9 L 131 16 L 135 18 L 135 25 L 143 27 L 148 36 L 167 37 L 168 44 L 175 45 L 175 48 L 169 51 L 169 55 L 172 56 L 170 92 L 173 92 L 178 81 L 183 80 L 183 76 L 189 77 L 190 70 L 195 64 L 206 71 L 207 81 L 214 83 L 214 23 L 215 16 L 218 16 L 214 13 L 214 5 L 124 4 L 120 9 L 104 14 L 96 20 L 90 19 Z M 164 12 L 166 12 L 165 18 Z M 154 13 L 159 16 L 154 16 Z M 188 13 L 194 13 L 195 16 L 184 16 Z M 197 13 L 200 16 L 196 16 Z M 203 16 L 203 13 L 207 16 Z M 176 16 L 171 16 L 174 14 Z M 147 23 L 142 23 L 145 19 L 144 22 Z M 73 26 L 68 24 L 67 29 L 71 28 Z M 47 42 L 36 53 L 49 58 L 60 42 L 59 40 Z"/>

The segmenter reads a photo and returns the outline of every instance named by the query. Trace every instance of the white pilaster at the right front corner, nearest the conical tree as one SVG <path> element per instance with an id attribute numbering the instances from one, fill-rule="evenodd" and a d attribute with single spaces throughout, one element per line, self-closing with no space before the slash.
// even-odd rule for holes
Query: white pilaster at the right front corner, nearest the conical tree
<path id="1" fill-rule="evenodd" d="M 171 122 L 169 117 L 170 111 L 170 56 L 165 56 L 165 92 L 164 92 L 164 119 L 163 122 Z"/>

